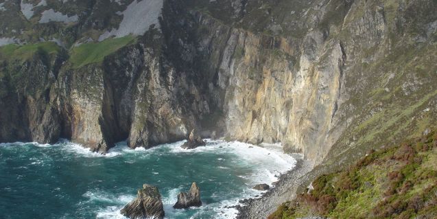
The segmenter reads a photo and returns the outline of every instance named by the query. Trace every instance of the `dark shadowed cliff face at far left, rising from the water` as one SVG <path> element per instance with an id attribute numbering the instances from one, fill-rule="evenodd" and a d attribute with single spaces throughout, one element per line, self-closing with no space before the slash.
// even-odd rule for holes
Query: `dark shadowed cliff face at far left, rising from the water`
<path id="1" fill-rule="evenodd" d="M 3 62 L 0 76 L 0 141 L 54 142 L 60 116 L 51 87 L 62 56 L 34 54 L 32 60 Z"/>

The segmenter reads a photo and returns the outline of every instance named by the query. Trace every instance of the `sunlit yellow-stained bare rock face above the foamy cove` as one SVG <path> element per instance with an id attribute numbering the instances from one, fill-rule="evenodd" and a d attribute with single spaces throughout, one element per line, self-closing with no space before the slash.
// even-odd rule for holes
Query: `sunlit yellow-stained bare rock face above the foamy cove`
<path id="1" fill-rule="evenodd" d="M 282 142 L 288 152 L 303 152 L 315 159 L 316 146 L 331 129 L 340 98 L 345 61 L 340 43 L 332 43 L 329 51 L 305 54 L 305 50 L 292 51 L 284 38 L 241 30 L 233 35 L 228 45 L 242 48 L 244 56 L 222 59 L 231 63 L 222 63 L 230 68 L 220 71 L 228 78 L 226 132 L 250 143 Z M 270 48 L 269 41 L 278 45 Z M 303 47 L 322 47 L 320 33 L 309 34 L 305 41 L 311 45 Z M 264 54 L 265 50 L 268 53 Z M 288 54 L 302 54 L 298 68 L 290 65 Z M 322 56 L 327 58 L 320 60 Z"/>

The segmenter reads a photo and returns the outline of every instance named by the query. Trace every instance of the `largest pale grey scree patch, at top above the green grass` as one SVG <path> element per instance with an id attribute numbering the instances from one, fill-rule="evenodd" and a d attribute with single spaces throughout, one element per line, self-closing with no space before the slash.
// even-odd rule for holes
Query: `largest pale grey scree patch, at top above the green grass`
<path id="1" fill-rule="evenodd" d="M 106 38 L 115 36 L 116 38 L 133 34 L 136 36 L 143 35 L 149 30 L 150 25 L 159 25 L 159 16 L 163 8 L 163 0 L 134 0 L 123 14 L 123 20 L 119 24 L 119 28 L 113 29 L 110 32 L 106 31 L 99 36 L 99 41 L 104 41 Z"/>

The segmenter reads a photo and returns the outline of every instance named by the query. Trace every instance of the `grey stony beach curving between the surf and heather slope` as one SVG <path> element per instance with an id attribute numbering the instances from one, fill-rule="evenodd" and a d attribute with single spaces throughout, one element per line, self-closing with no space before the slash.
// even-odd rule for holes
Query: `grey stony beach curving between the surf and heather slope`
<path id="1" fill-rule="evenodd" d="M 265 219 L 276 208 L 287 200 L 296 196 L 296 189 L 300 183 L 307 181 L 307 172 L 312 170 L 310 161 L 296 158 L 296 166 L 281 176 L 272 189 L 259 198 L 240 200 L 236 208 L 239 211 L 237 219 Z"/>

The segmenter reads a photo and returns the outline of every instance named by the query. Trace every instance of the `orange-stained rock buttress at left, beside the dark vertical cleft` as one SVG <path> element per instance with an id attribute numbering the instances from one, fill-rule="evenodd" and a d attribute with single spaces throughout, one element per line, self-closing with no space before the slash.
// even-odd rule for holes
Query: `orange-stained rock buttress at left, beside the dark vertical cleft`
<path id="1" fill-rule="evenodd" d="M 60 107 L 64 117 L 62 135 L 91 148 L 106 152 L 108 139 L 104 139 L 101 122 L 104 96 L 103 71 L 88 66 L 60 73 Z"/>

